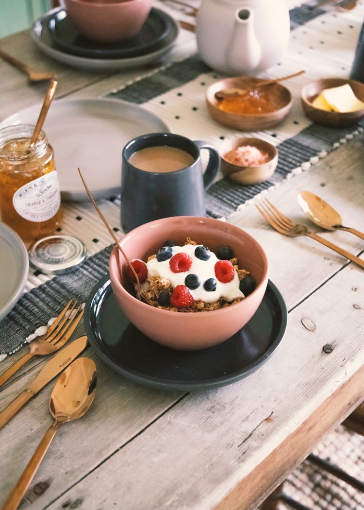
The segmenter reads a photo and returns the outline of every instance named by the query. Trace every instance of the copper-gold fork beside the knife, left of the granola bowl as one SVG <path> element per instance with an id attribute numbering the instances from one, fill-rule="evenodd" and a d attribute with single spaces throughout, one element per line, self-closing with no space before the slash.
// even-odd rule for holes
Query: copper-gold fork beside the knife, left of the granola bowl
<path id="1" fill-rule="evenodd" d="M 24 354 L 18 361 L 13 363 L 5 372 L 0 375 L 0 386 L 6 382 L 15 372 L 35 355 L 51 354 L 64 346 L 70 339 L 73 331 L 79 324 L 84 311 L 82 305 L 76 308 L 77 303 L 71 305 L 72 300 L 68 301 L 57 319 L 48 327 L 47 333 L 29 345 L 29 352 Z"/>

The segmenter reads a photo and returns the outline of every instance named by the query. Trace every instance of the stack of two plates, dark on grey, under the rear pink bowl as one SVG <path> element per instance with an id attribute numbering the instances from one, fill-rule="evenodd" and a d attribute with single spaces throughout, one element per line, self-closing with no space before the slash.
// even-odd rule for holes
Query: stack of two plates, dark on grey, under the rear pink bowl
<path id="1" fill-rule="evenodd" d="M 72 26 L 64 9 L 49 11 L 33 27 L 32 38 L 43 53 L 64 64 L 92 71 L 117 70 L 160 60 L 178 35 L 174 19 L 152 8 L 141 31 L 117 43 L 98 43 Z"/>

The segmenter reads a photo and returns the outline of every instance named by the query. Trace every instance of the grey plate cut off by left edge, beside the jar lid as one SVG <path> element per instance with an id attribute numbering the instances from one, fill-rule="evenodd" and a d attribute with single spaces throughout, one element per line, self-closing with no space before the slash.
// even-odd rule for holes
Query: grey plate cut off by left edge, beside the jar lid
<path id="1" fill-rule="evenodd" d="M 0 222 L 0 320 L 10 312 L 27 283 L 28 251 L 20 237 Z"/>

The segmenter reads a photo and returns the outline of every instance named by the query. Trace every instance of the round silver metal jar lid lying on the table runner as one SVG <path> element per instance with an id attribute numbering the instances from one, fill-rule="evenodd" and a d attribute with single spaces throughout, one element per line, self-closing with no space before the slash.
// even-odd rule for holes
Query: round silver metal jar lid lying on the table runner
<path id="1" fill-rule="evenodd" d="M 29 247 L 31 265 L 45 274 L 73 271 L 86 258 L 86 246 L 73 236 L 48 236 Z"/>

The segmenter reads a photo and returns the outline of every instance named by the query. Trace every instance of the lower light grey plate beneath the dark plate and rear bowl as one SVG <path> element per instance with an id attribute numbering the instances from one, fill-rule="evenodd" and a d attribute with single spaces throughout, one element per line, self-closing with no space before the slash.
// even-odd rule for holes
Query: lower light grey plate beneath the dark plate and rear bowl
<path id="1" fill-rule="evenodd" d="M 79 57 L 69 53 L 62 52 L 53 43 L 45 20 L 49 14 L 56 12 L 58 9 L 49 11 L 45 16 L 39 18 L 33 25 L 31 37 L 38 48 L 48 57 L 51 57 L 63 64 L 67 64 L 76 69 L 85 69 L 88 71 L 111 71 L 118 69 L 127 69 L 131 67 L 157 62 L 164 57 L 173 48 L 178 36 L 178 24 L 173 24 L 173 35 L 168 44 L 155 52 L 147 53 L 139 57 L 129 57 L 123 59 L 93 59 L 87 57 Z"/>

